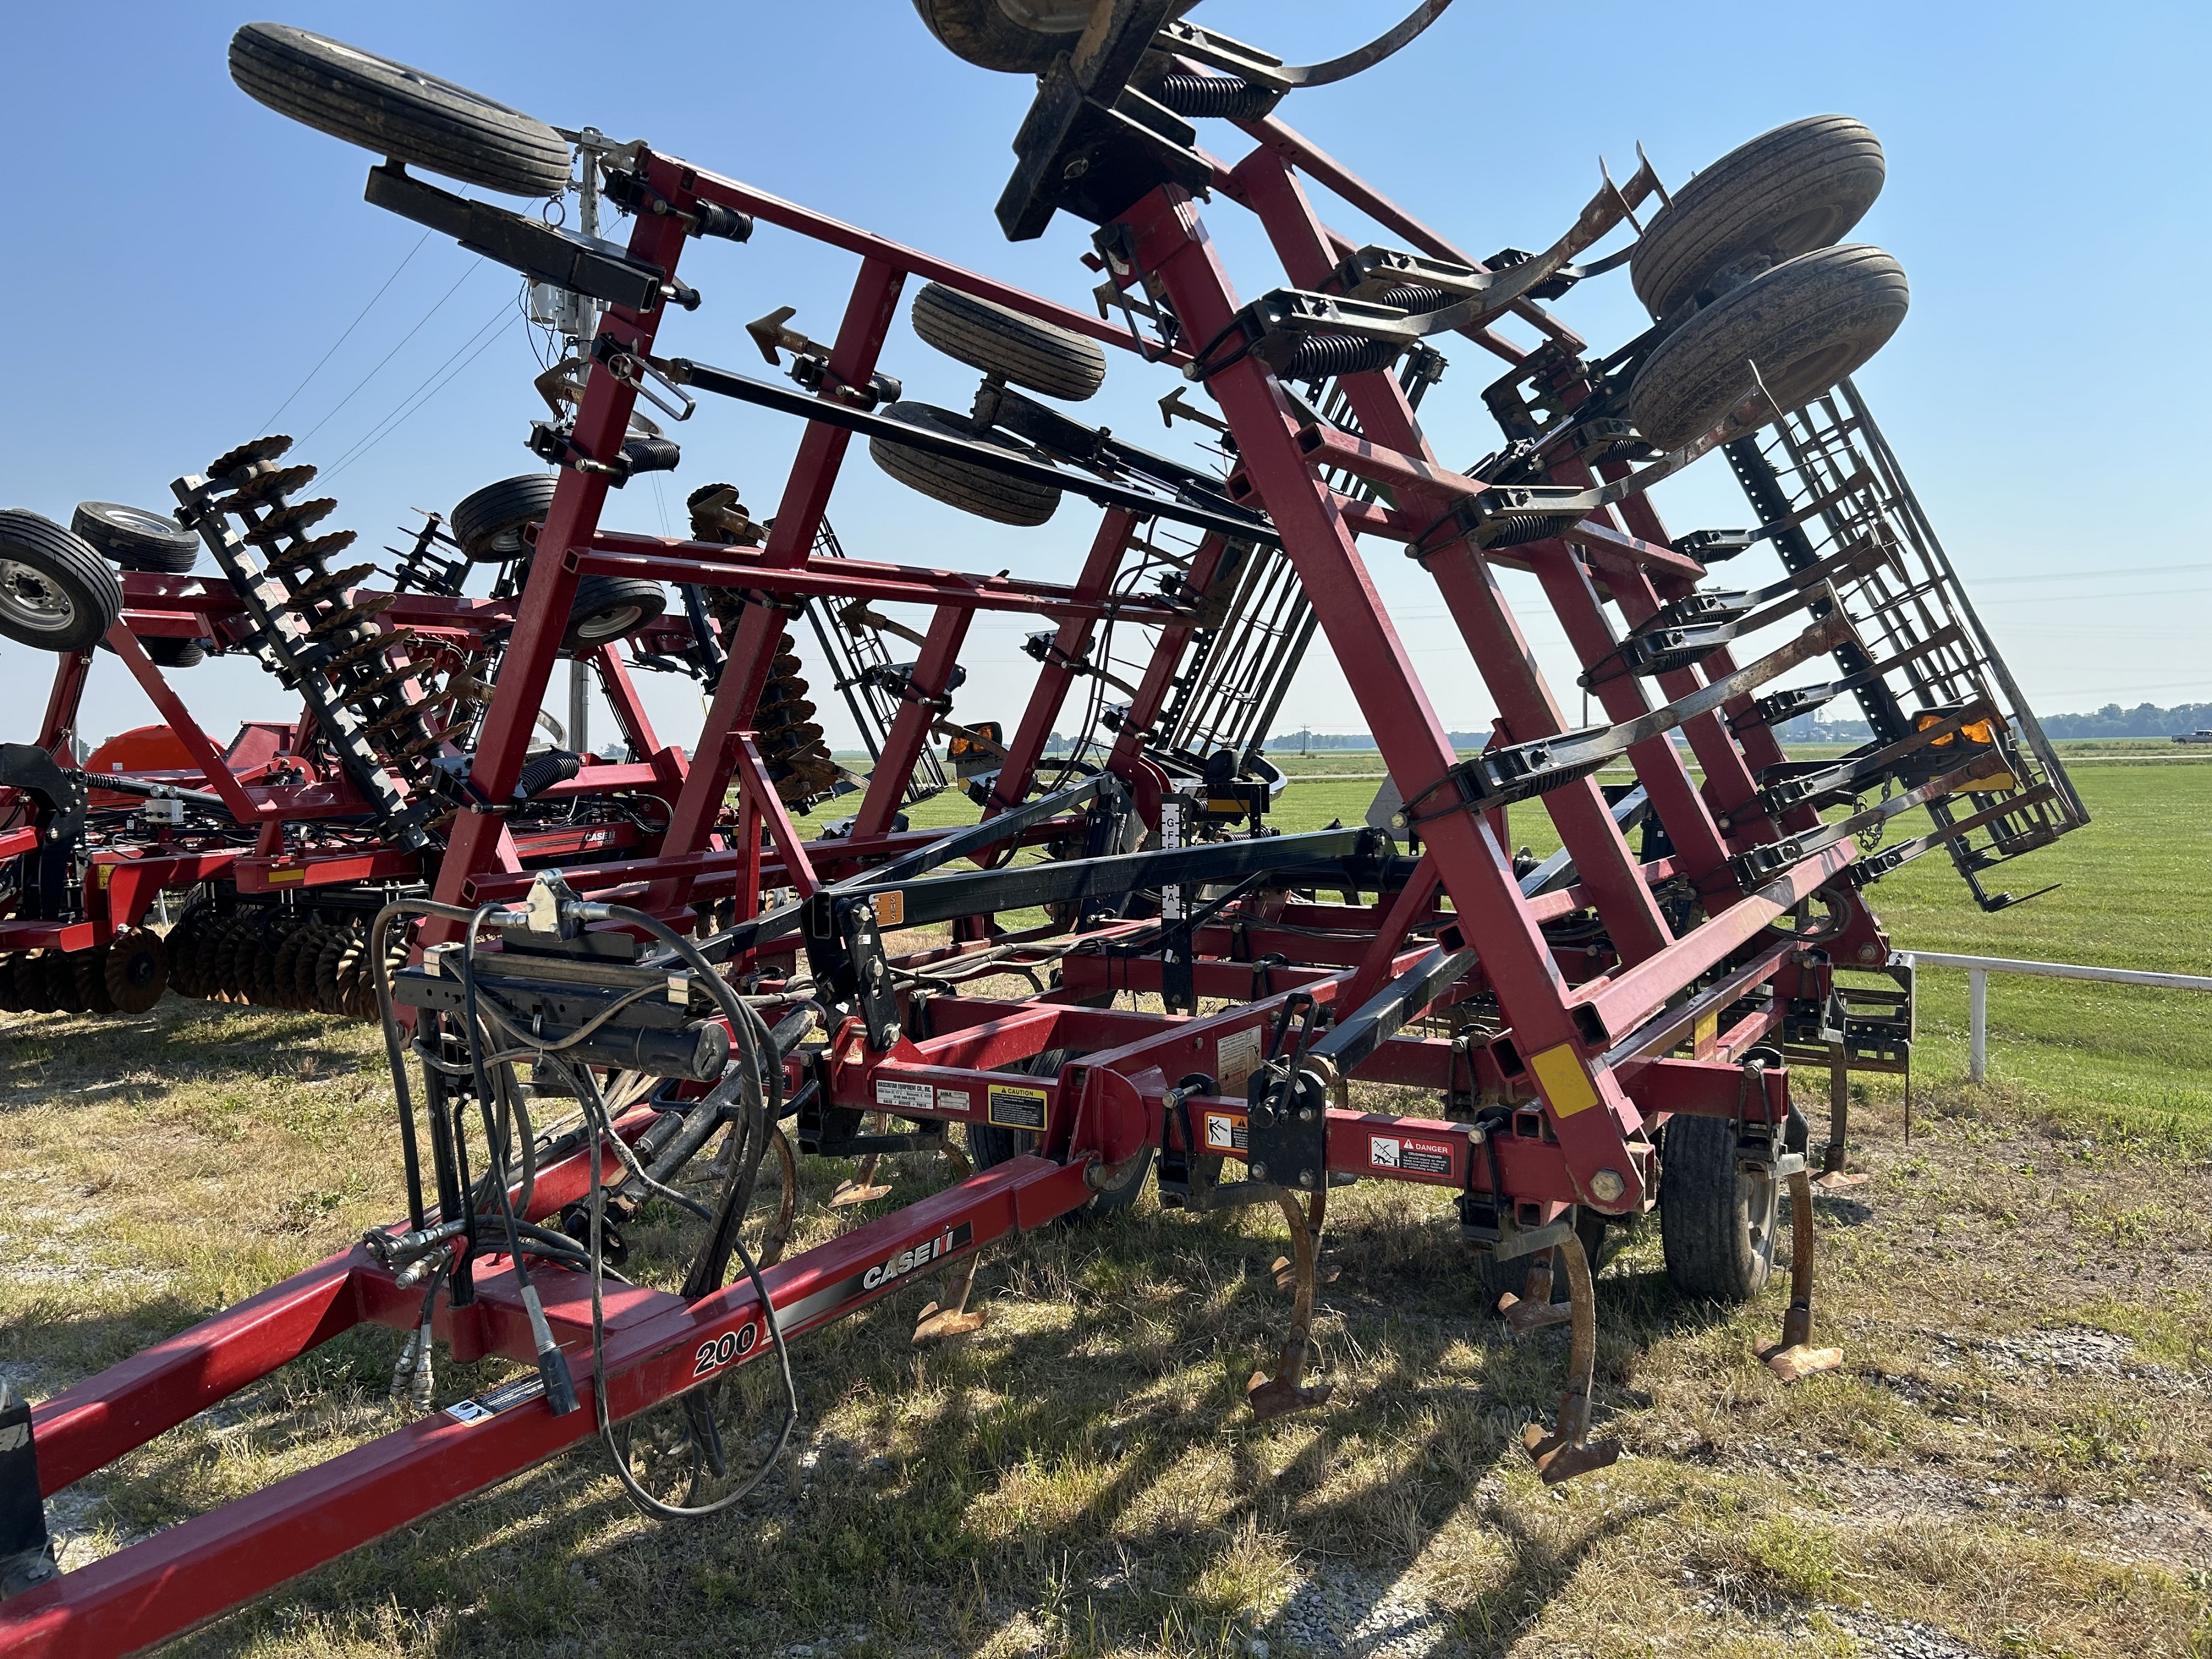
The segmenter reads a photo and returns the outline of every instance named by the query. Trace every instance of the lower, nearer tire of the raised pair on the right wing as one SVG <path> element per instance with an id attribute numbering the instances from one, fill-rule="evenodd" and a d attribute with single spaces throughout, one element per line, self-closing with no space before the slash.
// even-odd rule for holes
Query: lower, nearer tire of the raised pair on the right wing
<path id="1" fill-rule="evenodd" d="M 1880 248 L 1798 254 L 1668 334 L 1637 369 L 1628 414 L 1650 442 L 1679 449 L 1752 389 L 1752 363 L 1774 405 L 1796 409 L 1880 352 L 1909 305 L 1905 270 Z"/>

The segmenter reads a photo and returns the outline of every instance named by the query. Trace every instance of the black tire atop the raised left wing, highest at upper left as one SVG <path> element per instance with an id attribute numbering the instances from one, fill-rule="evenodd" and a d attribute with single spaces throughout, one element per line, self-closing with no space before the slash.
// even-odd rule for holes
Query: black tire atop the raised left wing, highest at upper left
<path id="1" fill-rule="evenodd" d="M 250 22 L 230 38 L 230 80 L 279 115 L 462 184 L 568 188 L 568 144 L 544 122 L 330 35 Z"/>

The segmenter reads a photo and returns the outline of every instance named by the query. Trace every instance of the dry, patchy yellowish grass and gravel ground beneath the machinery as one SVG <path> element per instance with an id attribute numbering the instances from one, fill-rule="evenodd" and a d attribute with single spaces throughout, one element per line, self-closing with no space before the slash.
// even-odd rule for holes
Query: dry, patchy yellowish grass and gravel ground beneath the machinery
<path id="1" fill-rule="evenodd" d="M 0 1369 L 31 1396 L 398 1208 L 363 1026 L 15 1018 L 0 1121 Z M 1816 1206 L 1847 1365 L 1778 1385 L 1781 1287 L 1688 1305 L 1639 1230 L 1599 1279 L 1626 1455 L 1562 1489 L 1517 1436 L 1564 1336 L 1506 1340 L 1444 1201 L 1340 1194 L 1334 1398 L 1254 1425 L 1281 1223 L 1148 1199 L 993 1250 L 975 1336 L 914 1347 L 914 1285 L 799 1343 L 801 1431 L 728 1520 L 641 1520 L 586 1447 L 175 1650 L 2212 1657 L 2212 1168 L 1986 1091 L 1924 1095 L 1909 1146 L 1896 1099 L 1860 1126 L 1874 1179 Z M 945 1179 L 909 1166 L 883 1203 Z M 880 1212 L 823 1206 L 845 1172 L 807 1161 L 801 1245 Z M 338 1338 L 62 1493 L 64 1566 L 378 1433 L 396 1343 Z"/>

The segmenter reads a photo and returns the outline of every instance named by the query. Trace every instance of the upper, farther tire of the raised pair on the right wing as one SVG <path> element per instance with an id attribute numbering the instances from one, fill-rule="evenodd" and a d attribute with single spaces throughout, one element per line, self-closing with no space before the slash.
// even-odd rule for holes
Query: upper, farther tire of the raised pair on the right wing
<path id="1" fill-rule="evenodd" d="M 1882 142 L 1849 115 L 1807 115 L 1692 177 L 1637 241 L 1628 276 L 1652 316 L 1712 294 L 1747 261 L 1778 265 L 1843 241 L 1882 192 Z"/>

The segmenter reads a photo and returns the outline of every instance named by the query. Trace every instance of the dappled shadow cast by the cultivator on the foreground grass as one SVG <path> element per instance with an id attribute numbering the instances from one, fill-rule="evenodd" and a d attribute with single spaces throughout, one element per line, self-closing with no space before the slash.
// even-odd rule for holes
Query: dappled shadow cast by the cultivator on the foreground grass
<path id="1" fill-rule="evenodd" d="M 894 1203 L 938 1181 L 907 1186 Z M 929 1283 L 794 1345 L 796 1455 L 723 1520 L 639 1522 L 588 1442 L 232 1615 L 197 1650 L 288 1648 L 307 1639 L 301 1619 L 327 1626 L 310 1646 L 345 1648 L 374 1610 L 376 1639 L 396 1617 L 422 1652 L 595 1652 L 635 1635 L 635 1590 L 655 1628 L 697 1632 L 679 1652 L 827 1652 L 841 1630 L 865 1632 L 858 1652 L 973 1652 L 1018 1621 L 1051 1650 L 1155 1650 L 1181 1630 L 1190 1652 L 1219 1652 L 1281 1635 L 1267 1608 L 1292 1559 L 1352 1562 L 1354 1595 L 1380 1597 L 1464 1515 L 1495 1528 L 1504 1562 L 1440 1615 L 1464 1641 L 1509 1646 L 1590 1548 L 1652 1511 L 1608 1513 L 1562 1548 L 1478 1493 L 1522 1467 L 1522 1422 L 1551 1422 L 1564 1343 L 1500 1340 L 1444 1217 L 1349 1217 L 1329 1241 L 1343 1279 L 1316 1338 L 1338 1394 L 1321 1411 L 1256 1425 L 1241 1400 L 1287 1312 L 1274 1228 L 1155 1210 L 1048 1228 L 991 1252 L 978 1305 L 998 1318 L 973 1338 L 909 1347 Z M 1029 1294 L 995 1296 L 1009 1281 Z M 1601 1294 L 1601 1396 L 1619 1394 L 1626 1349 L 1728 1318 L 1657 1272 L 1608 1272 Z M 1035 1312 L 1053 1318 L 1024 1329 Z M 752 1371 L 759 1413 L 726 1429 L 739 1462 L 776 1420 L 770 1367 Z M 153 1484 L 155 1511 L 186 1504 L 186 1460 Z M 1239 1528 L 1285 1540 L 1272 1566 L 1239 1555 Z"/>

